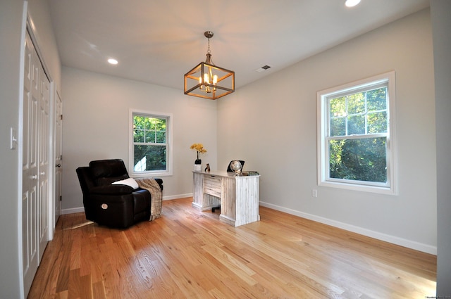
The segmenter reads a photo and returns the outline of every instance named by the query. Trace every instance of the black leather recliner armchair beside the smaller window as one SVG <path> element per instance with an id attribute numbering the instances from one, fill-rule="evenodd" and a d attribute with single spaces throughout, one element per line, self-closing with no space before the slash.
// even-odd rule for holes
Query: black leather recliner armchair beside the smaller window
<path id="1" fill-rule="evenodd" d="M 149 220 L 152 196 L 145 189 L 111 184 L 128 179 L 121 159 L 95 160 L 89 167 L 78 167 L 86 219 L 108 227 L 126 228 Z M 163 191 L 163 180 L 155 179 Z"/>

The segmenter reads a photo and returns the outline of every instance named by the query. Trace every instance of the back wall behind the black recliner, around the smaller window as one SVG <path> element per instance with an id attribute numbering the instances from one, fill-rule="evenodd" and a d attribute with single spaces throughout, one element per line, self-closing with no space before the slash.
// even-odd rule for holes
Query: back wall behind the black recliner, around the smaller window
<path id="1" fill-rule="evenodd" d="M 216 101 L 73 68 L 63 68 L 62 73 L 63 213 L 83 206 L 77 167 L 109 158 L 121 158 L 128 166 L 130 108 L 173 114 L 173 175 L 161 177 L 163 199 L 191 196 L 196 159 L 191 144 L 204 144 L 208 152 L 202 163 L 216 169 Z"/>

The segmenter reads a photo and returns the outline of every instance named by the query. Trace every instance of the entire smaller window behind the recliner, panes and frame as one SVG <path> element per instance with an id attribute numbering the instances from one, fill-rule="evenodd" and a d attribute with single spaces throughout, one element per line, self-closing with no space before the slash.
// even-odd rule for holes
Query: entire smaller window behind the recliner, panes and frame
<path id="1" fill-rule="evenodd" d="M 130 110 L 129 170 L 133 177 L 172 174 L 171 118 Z"/>

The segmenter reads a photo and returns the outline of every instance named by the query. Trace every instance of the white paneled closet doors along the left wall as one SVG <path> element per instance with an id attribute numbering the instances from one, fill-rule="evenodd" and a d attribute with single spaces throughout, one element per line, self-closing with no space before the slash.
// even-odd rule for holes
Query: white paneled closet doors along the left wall
<path id="1" fill-rule="evenodd" d="M 50 82 L 28 33 L 23 79 L 22 251 L 27 294 L 48 241 L 51 146 Z"/>

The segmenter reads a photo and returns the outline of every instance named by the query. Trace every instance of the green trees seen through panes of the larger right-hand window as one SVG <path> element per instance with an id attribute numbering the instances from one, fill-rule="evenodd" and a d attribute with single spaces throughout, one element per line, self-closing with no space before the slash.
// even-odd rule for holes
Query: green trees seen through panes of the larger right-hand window
<path id="1" fill-rule="evenodd" d="M 328 100 L 330 179 L 387 182 L 387 87 Z"/>

